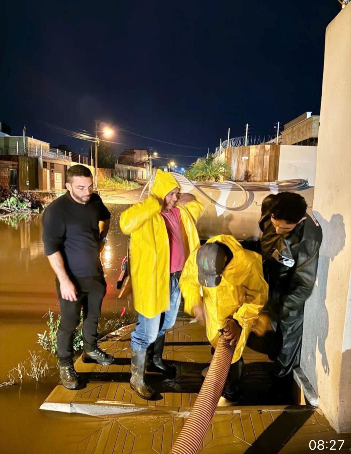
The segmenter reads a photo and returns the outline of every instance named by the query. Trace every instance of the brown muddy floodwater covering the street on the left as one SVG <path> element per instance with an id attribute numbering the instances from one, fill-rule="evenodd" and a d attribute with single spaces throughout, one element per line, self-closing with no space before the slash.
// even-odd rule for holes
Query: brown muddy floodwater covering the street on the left
<path id="1" fill-rule="evenodd" d="M 115 288 L 120 262 L 126 252 L 126 237 L 119 229 L 120 212 L 126 205 L 107 205 L 111 211 L 109 242 L 102 253 L 107 295 L 102 318 L 121 309 L 132 311 L 130 288 L 118 299 Z M 44 255 L 41 216 L 16 222 L 0 220 L 0 383 L 9 370 L 25 361 L 29 350 L 44 357 L 49 374 L 38 382 L 0 388 L 0 453 L 75 453 L 75 439 L 90 432 L 96 419 L 39 410 L 59 383 L 56 357 L 36 343 L 46 329 L 45 313 L 59 312 L 55 275 Z M 92 429 L 93 430 L 93 429 Z"/>

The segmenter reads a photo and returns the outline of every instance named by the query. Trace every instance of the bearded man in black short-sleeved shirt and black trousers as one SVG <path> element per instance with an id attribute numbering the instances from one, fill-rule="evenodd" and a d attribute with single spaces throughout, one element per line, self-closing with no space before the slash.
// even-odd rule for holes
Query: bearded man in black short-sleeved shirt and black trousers
<path id="1" fill-rule="evenodd" d="M 96 343 L 97 325 L 106 282 L 100 252 L 107 241 L 110 212 L 93 193 L 89 168 L 75 165 L 66 173 L 65 195 L 45 209 L 43 241 L 45 254 L 56 274 L 61 320 L 57 332 L 60 377 L 68 389 L 79 385 L 73 366 L 73 334 L 83 306 L 83 360 L 111 364 L 113 357 Z"/>

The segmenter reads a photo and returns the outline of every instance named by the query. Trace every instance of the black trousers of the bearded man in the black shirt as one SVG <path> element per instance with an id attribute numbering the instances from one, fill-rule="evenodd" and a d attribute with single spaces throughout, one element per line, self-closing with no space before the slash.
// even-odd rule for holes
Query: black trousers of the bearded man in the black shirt
<path id="1" fill-rule="evenodd" d="M 70 365 L 73 359 L 73 334 L 80 323 L 81 309 L 83 309 L 83 348 L 85 351 L 95 349 L 101 304 L 106 295 L 104 276 L 74 277 L 71 280 L 78 292 L 77 301 L 62 298 L 60 283 L 56 279 L 61 309 L 61 320 L 57 331 L 57 356 L 60 366 Z"/>

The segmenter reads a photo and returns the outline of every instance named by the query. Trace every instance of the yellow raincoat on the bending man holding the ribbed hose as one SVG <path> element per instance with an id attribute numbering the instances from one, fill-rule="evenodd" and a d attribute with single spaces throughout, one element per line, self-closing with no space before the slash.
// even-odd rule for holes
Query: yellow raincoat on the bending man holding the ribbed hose
<path id="1" fill-rule="evenodd" d="M 191 253 L 180 279 L 185 311 L 195 316 L 194 307 L 204 306 L 207 338 L 215 348 L 219 337 L 217 330 L 225 327 L 226 318 L 233 316 L 239 322 L 242 331 L 233 355 L 234 363 L 240 359 L 251 331 L 262 335 L 270 329 L 269 318 L 260 316 L 268 299 L 268 285 L 259 254 L 243 249 L 230 235 L 218 235 L 207 242 L 225 244 L 233 253 L 233 259 L 223 271 L 218 286 L 201 287 L 197 277 L 197 251 Z"/>

